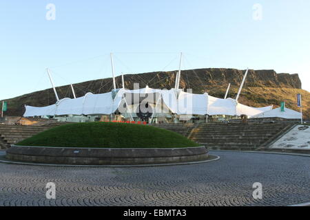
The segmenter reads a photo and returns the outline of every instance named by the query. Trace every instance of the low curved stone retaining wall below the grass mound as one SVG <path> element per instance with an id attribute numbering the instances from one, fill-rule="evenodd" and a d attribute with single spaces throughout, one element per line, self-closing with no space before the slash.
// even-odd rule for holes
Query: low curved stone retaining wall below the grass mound
<path id="1" fill-rule="evenodd" d="M 14 146 L 8 159 L 21 162 L 76 165 L 135 165 L 195 162 L 208 157 L 205 146 L 192 148 L 62 148 Z"/>

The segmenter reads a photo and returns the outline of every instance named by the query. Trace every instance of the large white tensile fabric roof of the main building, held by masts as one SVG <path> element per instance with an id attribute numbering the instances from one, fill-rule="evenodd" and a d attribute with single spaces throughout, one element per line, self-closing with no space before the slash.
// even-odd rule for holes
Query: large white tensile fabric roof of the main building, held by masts
<path id="1" fill-rule="evenodd" d="M 41 115 L 109 115 L 121 107 L 126 100 L 127 104 L 136 104 L 136 101 L 127 98 L 127 94 L 141 94 L 143 96 L 153 95 L 153 103 L 159 100 L 172 113 L 178 115 L 241 115 L 249 117 L 258 115 L 272 109 L 270 107 L 254 108 L 237 103 L 236 100 L 227 98 L 216 98 L 205 94 L 190 94 L 185 91 L 175 89 L 118 89 L 105 94 L 87 93 L 79 98 L 63 98 L 56 104 L 47 107 L 31 107 L 25 105 L 24 117 Z M 126 97 L 126 98 L 125 98 Z M 159 99 L 159 98 L 160 99 Z M 177 98 L 178 97 L 178 98 Z M 134 99 L 133 99 L 134 100 Z M 139 99 L 138 99 L 139 100 Z M 152 96 L 147 98 L 147 102 L 152 102 Z"/>

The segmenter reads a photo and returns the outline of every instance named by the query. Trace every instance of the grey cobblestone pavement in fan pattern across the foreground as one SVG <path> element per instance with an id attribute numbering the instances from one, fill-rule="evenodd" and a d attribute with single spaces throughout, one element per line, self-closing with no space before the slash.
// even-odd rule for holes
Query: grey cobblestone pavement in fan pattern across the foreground
<path id="1" fill-rule="evenodd" d="M 221 158 L 144 168 L 0 163 L 0 206 L 283 206 L 310 201 L 310 157 L 213 153 Z M 45 198 L 45 184 L 51 181 L 56 199 Z M 252 197 L 254 182 L 262 183 L 262 199 Z"/>

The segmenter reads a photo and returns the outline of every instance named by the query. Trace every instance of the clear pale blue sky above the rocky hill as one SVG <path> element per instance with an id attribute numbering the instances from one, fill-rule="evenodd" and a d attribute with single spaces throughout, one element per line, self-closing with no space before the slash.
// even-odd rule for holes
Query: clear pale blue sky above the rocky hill
<path id="1" fill-rule="evenodd" d="M 56 6 L 48 21 L 45 8 Z M 262 19 L 253 18 L 255 3 Z M 0 100 L 116 75 L 232 67 L 298 73 L 310 91 L 310 1 L 1 1 Z"/>

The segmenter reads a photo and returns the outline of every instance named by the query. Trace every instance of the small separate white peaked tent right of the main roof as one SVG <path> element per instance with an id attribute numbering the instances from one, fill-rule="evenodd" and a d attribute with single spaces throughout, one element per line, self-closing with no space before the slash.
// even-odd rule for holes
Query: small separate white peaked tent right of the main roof
<path id="1" fill-rule="evenodd" d="M 287 118 L 287 119 L 300 119 L 301 113 L 291 109 L 285 108 L 285 111 L 281 111 L 281 108 L 272 109 L 270 111 L 265 111 L 254 115 L 252 118 Z"/>

